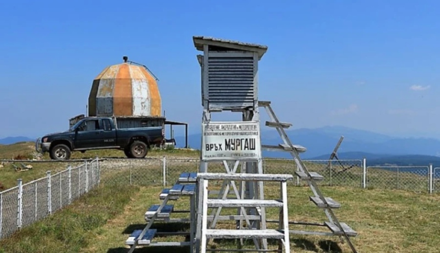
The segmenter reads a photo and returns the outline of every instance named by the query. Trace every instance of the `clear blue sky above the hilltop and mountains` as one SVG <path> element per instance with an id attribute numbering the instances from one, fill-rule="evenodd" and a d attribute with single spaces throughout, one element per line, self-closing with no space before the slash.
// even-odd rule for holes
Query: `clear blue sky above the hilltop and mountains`
<path id="1" fill-rule="evenodd" d="M 3 1 L 0 138 L 67 129 L 86 111 L 93 78 L 123 55 L 159 78 L 167 118 L 198 131 L 194 35 L 267 45 L 259 96 L 295 127 L 440 137 L 439 7 L 428 0 Z"/>

